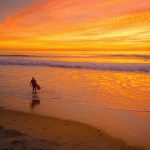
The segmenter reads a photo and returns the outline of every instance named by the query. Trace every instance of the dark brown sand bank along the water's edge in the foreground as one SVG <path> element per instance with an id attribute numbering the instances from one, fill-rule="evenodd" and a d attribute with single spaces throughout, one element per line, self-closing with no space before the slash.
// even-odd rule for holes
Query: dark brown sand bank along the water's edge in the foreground
<path id="1" fill-rule="evenodd" d="M 144 150 L 86 124 L 0 108 L 0 150 Z"/>

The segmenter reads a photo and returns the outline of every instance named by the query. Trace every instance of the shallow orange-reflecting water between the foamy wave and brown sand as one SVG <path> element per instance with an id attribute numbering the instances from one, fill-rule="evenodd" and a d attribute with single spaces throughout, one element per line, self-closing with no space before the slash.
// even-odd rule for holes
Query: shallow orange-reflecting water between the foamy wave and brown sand
<path id="1" fill-rule="evenodd" d="M 149 73 L 19 65 L 0 70 L 1 105 L 87 123 L 150 148 Z M 32 76 L 42 87 L 36 95 Z"/>

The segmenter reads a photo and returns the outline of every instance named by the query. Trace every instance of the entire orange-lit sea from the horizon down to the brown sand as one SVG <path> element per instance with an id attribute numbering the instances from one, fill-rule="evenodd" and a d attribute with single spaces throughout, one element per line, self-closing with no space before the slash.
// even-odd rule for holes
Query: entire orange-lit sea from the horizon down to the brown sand
<path id="1" fill-rule="evenodd" d="M 42 87 L 35 95 L 33 76 Z M 150 54 L 1 54 L 0 105 L 87 123 L 150 148 Z"/>

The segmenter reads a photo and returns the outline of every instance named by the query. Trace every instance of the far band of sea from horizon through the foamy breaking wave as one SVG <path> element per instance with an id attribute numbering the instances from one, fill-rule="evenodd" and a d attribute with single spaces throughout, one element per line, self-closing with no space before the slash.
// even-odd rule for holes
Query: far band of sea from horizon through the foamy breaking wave
<path id="1" fill-rule="evenodd" d="M 1 54 L 0 65 L 150 72 L 150 53 L 148 52 L 109 52 L 108 54 L 99 51 L 69 52 L 56 53 L 56 51 L 54 51 L 47 54 Z"/>

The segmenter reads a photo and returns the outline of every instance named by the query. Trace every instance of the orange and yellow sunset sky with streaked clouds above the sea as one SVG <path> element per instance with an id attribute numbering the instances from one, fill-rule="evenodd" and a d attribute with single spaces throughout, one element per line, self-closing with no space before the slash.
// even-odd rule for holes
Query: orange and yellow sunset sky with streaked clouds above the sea
<path id="1" fill-rule="evenodd" d="M 0 50 L 150 50 L 150 0 L 0 0 Z"/>

